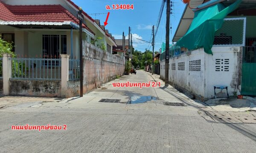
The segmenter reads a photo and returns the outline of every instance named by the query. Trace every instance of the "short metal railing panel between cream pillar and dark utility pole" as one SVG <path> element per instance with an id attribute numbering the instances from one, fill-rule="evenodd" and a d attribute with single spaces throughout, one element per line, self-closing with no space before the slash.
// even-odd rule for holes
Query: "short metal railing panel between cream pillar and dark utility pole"
<path id="1" fill-rule="evenodd" d="M 75 81 L 80 79 L 80 60 L 69 59 L 69 81 Z"/>

